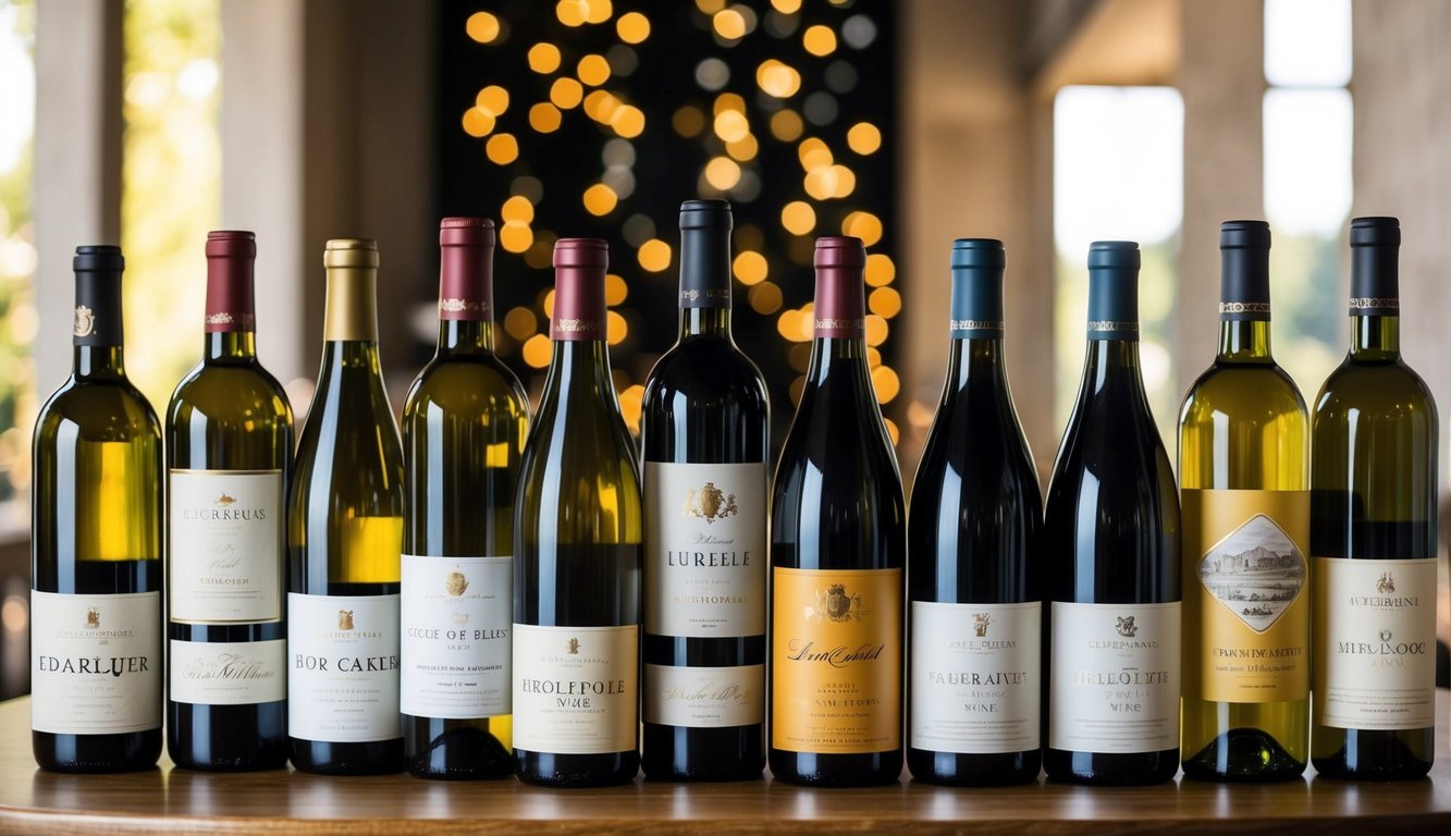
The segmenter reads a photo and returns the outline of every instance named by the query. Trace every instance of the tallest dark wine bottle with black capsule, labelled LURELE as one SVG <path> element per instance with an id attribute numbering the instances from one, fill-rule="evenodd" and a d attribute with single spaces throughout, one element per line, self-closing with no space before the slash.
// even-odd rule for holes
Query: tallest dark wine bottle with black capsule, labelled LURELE
<path id="1" fill-rule="evenodd" d="M 770 406 L 730 332 L 730 203 L 681 206 L 681 338 L 644 388 L 649 778 L 730 781 L 766 765 Z"/>

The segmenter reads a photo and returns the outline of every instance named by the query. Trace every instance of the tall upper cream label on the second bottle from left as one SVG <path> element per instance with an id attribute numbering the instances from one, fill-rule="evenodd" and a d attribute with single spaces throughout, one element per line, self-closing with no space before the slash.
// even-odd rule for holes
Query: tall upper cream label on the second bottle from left
<path id="1" fill-rule="evenodd" d="M 170 478 L 170 618 L 280 620 L 281 470 L 171 470 Z"/>

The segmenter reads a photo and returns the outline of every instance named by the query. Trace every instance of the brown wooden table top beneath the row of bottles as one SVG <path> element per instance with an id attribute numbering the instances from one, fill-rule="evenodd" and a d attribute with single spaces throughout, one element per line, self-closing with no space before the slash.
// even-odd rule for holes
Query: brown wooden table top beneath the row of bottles
<path id="1" fill-rule="evenodd" d="M 0 833 L 1384 833 L 1451 835 L 1451 695 L 1436 694 L 1436 765 L 1403 784 L 1300 781 L 1145 788 L 1030 784 L 872 790 L 653 784 L 538 790 L 518 781 L 441 784 L 406 775 L 319 778 L 290 771 L 160 769 L 57 775 L 30 759 L 28 700 L 0 702 Z"/>

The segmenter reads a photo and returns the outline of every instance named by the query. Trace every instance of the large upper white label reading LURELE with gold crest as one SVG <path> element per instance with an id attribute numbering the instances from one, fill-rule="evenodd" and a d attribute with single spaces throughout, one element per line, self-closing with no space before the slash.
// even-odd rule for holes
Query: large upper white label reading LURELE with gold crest
<path id="1" fill-rule="evenodd" d="M 644 463 L 646 633 L 766 633 L 766 466 Z"/>

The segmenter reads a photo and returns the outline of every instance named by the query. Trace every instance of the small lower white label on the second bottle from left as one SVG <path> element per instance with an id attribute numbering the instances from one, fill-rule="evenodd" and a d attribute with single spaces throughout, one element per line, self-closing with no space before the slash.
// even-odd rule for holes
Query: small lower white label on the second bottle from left
<path id="1" fill-rule="evenodd" d="M 287 642 L 171 640 L 171 701 L 255 705 L 287 698 Z"/>

